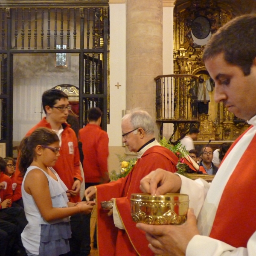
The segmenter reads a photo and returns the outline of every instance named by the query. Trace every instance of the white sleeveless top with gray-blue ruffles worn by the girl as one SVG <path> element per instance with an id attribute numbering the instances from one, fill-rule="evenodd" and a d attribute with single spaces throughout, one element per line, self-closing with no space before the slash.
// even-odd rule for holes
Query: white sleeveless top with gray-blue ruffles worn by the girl
<path id="1" fill-rule="evenodd" d="M 29 253 L 40 256 L 58 256 L 67 253 L 70 251 L 68 239 L 71 237 L 69 217 L 49 222 L 45 221 L 32 195 L 29 195 L 24 190 L 26 175 L 33 169 L 40 168 L 29 166 L 21 186 L 24 209 L 28 221 L 21 234 L 23 246 Z M 50 169 L 56 175 L 58 181 L 54 180 L 42 169 L 40 170 L 44 172 L 48 179 L 52 206 L 56 208 L 67 207 L 67 186 L 60 179 L 57 172 L 52 168 Z"/>

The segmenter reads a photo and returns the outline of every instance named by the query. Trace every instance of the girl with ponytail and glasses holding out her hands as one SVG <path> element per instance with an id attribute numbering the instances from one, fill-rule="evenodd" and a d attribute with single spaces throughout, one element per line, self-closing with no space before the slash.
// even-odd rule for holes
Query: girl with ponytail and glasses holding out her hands
<path id="1" fill-rule="evenodd" d="M 71 203 L 67 186 L 52 168 L 60 156 L 55 131 L 38 128 L 19 148 L 19 170 L 28 224 L 21 234 L 28 256 L 58 256 L 70 250 L 70 215 L 88 214 L 94 202 Z"/>

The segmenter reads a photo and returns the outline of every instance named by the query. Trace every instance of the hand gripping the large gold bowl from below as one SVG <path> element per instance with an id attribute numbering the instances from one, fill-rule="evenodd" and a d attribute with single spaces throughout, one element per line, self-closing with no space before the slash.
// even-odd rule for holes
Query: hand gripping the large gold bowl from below
<path id="1" fill-rule="evenodd" d="M 136 227 L 146 232 L 152 252 L 163 256 L 185 256 L 189 241 L 199 235 L 192 208 L 188 211 L 186 223 L 180 226 L 137 223 Z"/>

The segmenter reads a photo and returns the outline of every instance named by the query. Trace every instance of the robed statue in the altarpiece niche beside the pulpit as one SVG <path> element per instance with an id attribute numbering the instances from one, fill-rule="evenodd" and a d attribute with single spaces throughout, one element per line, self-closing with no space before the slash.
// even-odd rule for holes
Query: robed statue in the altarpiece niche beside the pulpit
<path id="1" fill-rule="evenodd" d="M 209 101 L 210 96 L 209 92 L 213 91 L 213 81 L 209 78 L 206 81 L 204 80 L 204 76 L 199 76 L 199 84 L 198 84 L 198 113 L 207 115 L 209 112 Z"/>

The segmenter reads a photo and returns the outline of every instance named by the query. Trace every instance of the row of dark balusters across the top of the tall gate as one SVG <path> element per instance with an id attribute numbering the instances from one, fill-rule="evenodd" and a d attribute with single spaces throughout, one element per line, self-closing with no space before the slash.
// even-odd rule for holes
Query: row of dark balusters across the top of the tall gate
<path id="1" fill-rule="evenodd" d="M 1 9 L 1 49 L 7 49 L 7 19 L 12 18 L 12 49 L 79 49 L 81 22 L 86 23 L 86 49 L 100 49 L 103 44 L 103 8 L 15 8 Z M 78 38 L 79 35 L 79 38 Z"/>

